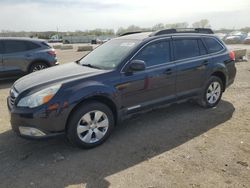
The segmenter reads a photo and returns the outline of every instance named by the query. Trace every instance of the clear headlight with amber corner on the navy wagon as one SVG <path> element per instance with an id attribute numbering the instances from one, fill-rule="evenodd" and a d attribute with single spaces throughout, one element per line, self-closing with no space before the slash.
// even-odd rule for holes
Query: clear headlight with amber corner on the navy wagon
<path id="1" fill-rule="evenodd" d="M 61 84 L 54 85 L 49 88 L 38 91 L 32 95 L 24 97 L 18 102 L 17 106 L 34 108 L 45 104 L 49 102 L 49 100 L 56 94 L 60 87 Z"/>

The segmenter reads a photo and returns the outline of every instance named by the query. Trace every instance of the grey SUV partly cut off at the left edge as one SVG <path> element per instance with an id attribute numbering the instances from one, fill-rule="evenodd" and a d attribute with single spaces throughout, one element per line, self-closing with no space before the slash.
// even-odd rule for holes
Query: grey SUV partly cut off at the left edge
<path id="1" fill-rule="evenodd" d="M 56 53 L 45 41 L 0 38 L 0 79 L 16 77 L 58 64 Z"/>

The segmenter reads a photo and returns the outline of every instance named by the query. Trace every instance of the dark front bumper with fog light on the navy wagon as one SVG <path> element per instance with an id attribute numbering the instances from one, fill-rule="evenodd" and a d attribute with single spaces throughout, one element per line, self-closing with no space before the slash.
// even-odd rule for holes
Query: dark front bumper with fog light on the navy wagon
<path id="1" fill-rule="evenodd" d="M 17 135 L 26 138 L 48 138 L 64 134 L 69 109 L 48 111 L 46 105 L 33 109 L 17 108 L 11 106 L 9 101 L 8 97 L 10 123 Z"/>

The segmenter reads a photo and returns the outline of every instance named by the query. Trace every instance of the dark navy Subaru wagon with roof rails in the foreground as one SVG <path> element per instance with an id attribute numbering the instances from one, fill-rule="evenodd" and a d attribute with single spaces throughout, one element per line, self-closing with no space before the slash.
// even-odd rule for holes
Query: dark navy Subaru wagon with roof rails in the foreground
<path id="1" fill-rule="evenodd" d="M 8 97 L 12 129 L 32 138 L 66 133 L 90 148 L 139 111 L 189 99 L 216 106 L 234 81 L 234 53 L 204 32 L 121 36 L 77 62 L 17 80 Z"/>

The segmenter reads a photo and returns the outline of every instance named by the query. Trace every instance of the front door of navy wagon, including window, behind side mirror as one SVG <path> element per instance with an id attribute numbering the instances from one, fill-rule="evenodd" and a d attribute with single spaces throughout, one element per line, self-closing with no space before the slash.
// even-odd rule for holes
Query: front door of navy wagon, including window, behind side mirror
<path id="1" fill-rule="evenodd" d="M 176 67 L 170 46 L 170 39 L 150 42 L 132 58 L 143 60 L 146 70 L 122 73 L 122 104 L 128 111 L 175 99 Z"/>

